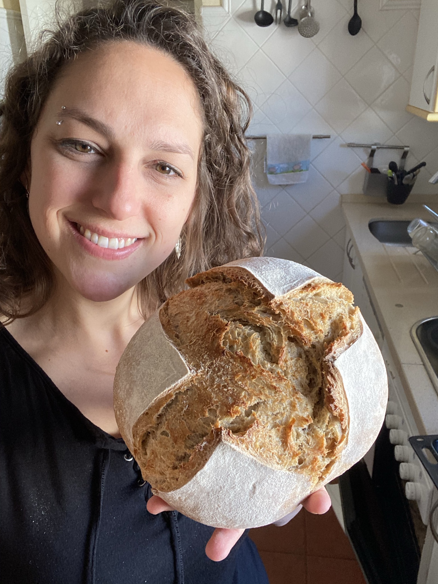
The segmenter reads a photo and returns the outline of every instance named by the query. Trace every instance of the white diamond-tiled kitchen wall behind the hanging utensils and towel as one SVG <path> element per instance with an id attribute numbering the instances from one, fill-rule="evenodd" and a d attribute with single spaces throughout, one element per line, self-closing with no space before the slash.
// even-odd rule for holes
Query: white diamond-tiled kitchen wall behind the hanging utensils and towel
<path id="1" fill-rule="evenodd" d="M 265 0 L 265 9 L 274 14 L 274 4 Z M 321 25 L 312 39 L 283 24 L 256 26 L 253 15 L 259 0 L 231 0 L 230 15 L 217 16 L 208 8 L 203 12 L 211 47 L 255 104 L 249 134 L 332 136 L 312 141 L 307 183 L 285 187 L 267 183 L 266 143 L 252 145 L 253 181 L 267 227 L 267 255 L 305 263 L 335 280 L 342 277 L 345 238 L 340 194 L 362 192 L 365 171 L 360 163 L 369 154 L 341 144 L 409 144 L 407 165 L 427 162 L 413 193 L 438 194 L 438 186 L 427 183 L 438 171 L 438 123 L 405 111 L 419 12 L 380 11 L 379 4 L 379 0 L 359 2 L 363 26 L 352 37 L 347 23 L 353 0 L 312 0 Z M 378 151 L 376 165 L 397 156 L 397 151 Z"/>

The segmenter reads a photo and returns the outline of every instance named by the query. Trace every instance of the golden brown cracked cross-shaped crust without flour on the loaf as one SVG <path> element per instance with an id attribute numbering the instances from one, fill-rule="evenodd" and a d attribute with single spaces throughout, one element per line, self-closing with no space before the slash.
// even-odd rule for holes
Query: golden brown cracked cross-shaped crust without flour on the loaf
<path id="1" fill-rule="evenodd" d="M 134 456 L 169 492 L 219 440 L 271 468 L 321 482 L 346 444 L 348 404 L 333 361 L 361 334 L 352 294 L 324 279 L 274 297 L 240 267 L 197 274 L 159 318 L 193 376 L 133 427 Z"/>

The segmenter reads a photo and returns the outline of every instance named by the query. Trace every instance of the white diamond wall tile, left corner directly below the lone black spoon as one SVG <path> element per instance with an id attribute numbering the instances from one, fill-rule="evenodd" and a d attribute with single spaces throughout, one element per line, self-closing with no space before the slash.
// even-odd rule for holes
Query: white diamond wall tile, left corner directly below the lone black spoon
<path id="1" fill-rule="evenodd" d="M 386 91 L 397 77 L 397 69 L 376 46 L 371 47 L 345 75 L 349 84 L 368 105 Z"/>

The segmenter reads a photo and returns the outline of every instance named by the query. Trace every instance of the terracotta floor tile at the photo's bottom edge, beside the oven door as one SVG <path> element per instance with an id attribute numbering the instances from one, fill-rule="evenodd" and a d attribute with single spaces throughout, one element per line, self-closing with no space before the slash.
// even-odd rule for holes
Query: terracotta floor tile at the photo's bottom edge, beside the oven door
<path id="1" fill-rule="evenodd" d="M 307 584 L 366 584 L 355 559 L 307 556 Z"/>

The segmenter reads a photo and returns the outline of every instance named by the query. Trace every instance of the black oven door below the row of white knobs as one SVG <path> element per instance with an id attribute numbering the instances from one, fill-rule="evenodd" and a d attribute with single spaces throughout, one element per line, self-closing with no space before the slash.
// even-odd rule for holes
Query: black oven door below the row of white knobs
<path id="1" fill-rule="evenodd" d="M 369 584 L 416 584 L 420 548 L 394 446 L 383 426 L 373 477 L 364 460 L 339 477 L 345 531 Z"/>

